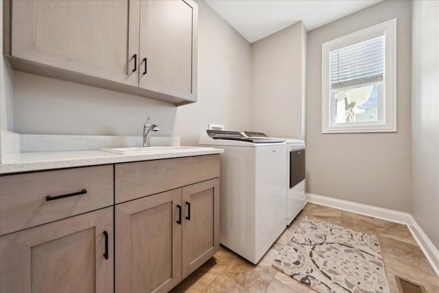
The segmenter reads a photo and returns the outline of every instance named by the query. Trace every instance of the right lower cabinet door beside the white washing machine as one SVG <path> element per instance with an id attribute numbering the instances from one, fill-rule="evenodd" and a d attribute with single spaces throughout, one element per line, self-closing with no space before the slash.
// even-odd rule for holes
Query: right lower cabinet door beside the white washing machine
<path id="1" fill-rule="evenodd" d="M 219 250 L 219 179 L 183 187 L 182 277 Z"/>

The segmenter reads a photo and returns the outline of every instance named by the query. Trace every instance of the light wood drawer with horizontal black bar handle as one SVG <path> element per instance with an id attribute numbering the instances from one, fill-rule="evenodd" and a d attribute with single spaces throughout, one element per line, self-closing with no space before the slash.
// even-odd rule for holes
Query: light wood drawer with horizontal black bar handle
<path id="1" fill-rule="evenodd" d="M 112 165 L 1 176 L 0 235 L 108 207 L 112 183 Z"/>

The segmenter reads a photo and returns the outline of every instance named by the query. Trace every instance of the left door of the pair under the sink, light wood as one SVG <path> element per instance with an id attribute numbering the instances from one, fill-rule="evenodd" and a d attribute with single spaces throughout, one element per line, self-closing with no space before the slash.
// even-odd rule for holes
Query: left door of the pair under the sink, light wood
<path id="1" fill-rule="evenodd" d="M 181 281 L 181 209 L 181 189 L 116 205 L 115 292 L 168 292 Z"/>

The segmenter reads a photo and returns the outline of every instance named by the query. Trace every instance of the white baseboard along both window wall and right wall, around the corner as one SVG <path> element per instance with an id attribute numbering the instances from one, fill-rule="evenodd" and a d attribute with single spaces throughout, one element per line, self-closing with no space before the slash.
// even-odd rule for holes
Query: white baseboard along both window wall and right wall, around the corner
<path id="1" fill-rule="evenodd" d="M 344 211 L 359 213 L 360 215 L 368 215 L 372 218 L 407 225 L 410 233 L 412 233 L 414 239 L 418 243 L 418 246 L 421 250 L 423 250 L 425 257 L 439 277 L 439 251 L 431 243 L 430 239 L 427 237 L 427 235 L 425 235 L 422 228 L 420 228 L 410 213 L 403 213 L 401 211 L 394 211 L 392 209 L 383 209 L 381 207 L 374 207 L 368 204 L 359 204 L 357 202 L 350 202 L 348 200 L 329 198 L 327 196 L 319 196 L 317 194 L 307 194 L 307 202 L 321 204 L 327 207 L 333 207 L 335 209 L 342 209 Z"/>

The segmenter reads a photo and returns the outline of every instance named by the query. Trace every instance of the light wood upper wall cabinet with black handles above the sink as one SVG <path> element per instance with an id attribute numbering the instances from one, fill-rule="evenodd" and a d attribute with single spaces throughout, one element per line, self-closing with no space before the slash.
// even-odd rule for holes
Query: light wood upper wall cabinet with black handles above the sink
<path id="1" fill-rule="evenodd" d="M 172 1 L 4 1 L 14 69 L 160 99 L 197 100 L 198 6 Z"/>

